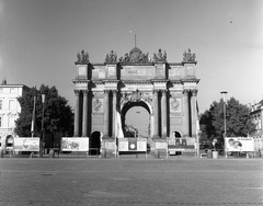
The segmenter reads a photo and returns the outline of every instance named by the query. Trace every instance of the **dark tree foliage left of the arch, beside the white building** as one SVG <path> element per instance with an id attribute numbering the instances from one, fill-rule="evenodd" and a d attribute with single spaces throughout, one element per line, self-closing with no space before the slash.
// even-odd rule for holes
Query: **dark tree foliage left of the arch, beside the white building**
<path id="1" fill-rule="evenodd" d="M 58 94 L 55 87 L 42 84 L 39 90 L 32 88 L 18 99 L 21 105 L 21 113 L 15 122 L 15 133 L 20 137 L 31 136 L 32 117 L 35 96 L 35 121 L 34 136 L 42 131 L 43 102 L 42 94 L 45 93 L 44 103 L 44 129 L 50 131 L 71 133 L 73 125 L 73 113 L 68 101 Z"/>

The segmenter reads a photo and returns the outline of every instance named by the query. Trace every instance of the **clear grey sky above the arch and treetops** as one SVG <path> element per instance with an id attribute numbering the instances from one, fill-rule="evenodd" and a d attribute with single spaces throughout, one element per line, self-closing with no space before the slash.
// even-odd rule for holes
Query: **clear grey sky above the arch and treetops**
<path id="1" fill-rule="evenodd" d="M 77 53 L 103 62 L 112 49 L 196 54 L 201 113 L 220 92 L 242 104 L 263 99 L 262 0 L 0 0 L 0 80 L 55 85 L 75 107 Z"/>

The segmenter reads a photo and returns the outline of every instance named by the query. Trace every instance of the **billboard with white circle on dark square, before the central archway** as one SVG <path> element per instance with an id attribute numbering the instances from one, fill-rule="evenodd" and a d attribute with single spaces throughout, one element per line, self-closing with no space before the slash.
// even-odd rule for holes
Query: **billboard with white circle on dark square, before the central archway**
<path id="1" fill-rule="evenodd" d="M 147 138 L 119 138 L 118 151 L 147 151 Z"/>

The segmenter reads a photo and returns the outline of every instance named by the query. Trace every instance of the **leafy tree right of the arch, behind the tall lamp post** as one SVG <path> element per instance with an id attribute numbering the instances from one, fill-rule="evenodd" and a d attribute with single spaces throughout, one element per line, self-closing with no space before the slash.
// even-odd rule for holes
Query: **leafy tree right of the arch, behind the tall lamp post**
<path id="1" fill-rule="evenodd" d="M 216 138 L 224 142 L 224 102 L 213 102 L 210 108 L 201 116 L 201 141 Z M 250 118 L 250 108 L 231 98 L 226 104 L 227 137 L 245 137 L 255 133 L 255 125 Z"/>

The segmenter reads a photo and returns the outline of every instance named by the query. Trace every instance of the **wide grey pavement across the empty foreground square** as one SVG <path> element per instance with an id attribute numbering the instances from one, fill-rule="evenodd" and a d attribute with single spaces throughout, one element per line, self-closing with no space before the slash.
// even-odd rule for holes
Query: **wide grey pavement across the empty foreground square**
<path id="1" fill-rule="evenodd" d="M 0 205 L 263 205 L 263 159 L 0 159 Z"/>

